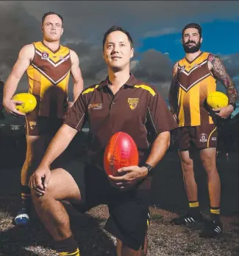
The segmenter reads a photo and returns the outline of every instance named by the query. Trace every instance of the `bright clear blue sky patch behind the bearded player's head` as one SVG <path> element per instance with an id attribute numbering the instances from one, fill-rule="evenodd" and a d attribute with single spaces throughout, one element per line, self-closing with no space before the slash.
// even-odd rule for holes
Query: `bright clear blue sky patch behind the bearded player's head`
<path id="1" fill-rule="evenodd" d="M 204 52 L 229 55 L 239 52 L 239 21 L 217 19 L 210 23 L 201 23 L 203 42 L 201 49 Z M 168 52 L 171 60 L 183 58 L 185 52 L 182 49 L 181 32 L 169 35 L 142 38 L 139 52 L 147 49 L 157 49 L 160 52 Z"/>

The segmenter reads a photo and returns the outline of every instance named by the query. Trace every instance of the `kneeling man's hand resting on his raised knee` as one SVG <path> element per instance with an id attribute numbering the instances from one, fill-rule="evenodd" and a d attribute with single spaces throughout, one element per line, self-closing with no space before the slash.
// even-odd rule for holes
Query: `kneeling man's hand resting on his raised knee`
<path id="1" fill-rule="evenodd" d="M 43 196 L 46 193 L 47 185 L 49 184 L 51 177 L 51 170 L 47 166 L 40 166 L 32 174 L 29 179 L 29 187 L 38 194 Z"/>

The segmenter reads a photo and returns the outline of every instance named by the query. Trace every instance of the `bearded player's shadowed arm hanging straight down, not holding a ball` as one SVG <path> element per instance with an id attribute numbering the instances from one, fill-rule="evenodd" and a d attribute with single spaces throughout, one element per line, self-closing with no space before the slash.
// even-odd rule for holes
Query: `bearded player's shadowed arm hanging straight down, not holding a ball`
<path id="1" fill-rule="evenodd" d="M 178 86 L 177 86 L 177 63 L 174 65 L 173 69 L 173 79 L 171 80 L 171 86 L 168 93 L 168 103 L 170 105 L 170 110 L 172 114 L 176 114 L 177 111 L 177 94 L 178 94 Z"/>

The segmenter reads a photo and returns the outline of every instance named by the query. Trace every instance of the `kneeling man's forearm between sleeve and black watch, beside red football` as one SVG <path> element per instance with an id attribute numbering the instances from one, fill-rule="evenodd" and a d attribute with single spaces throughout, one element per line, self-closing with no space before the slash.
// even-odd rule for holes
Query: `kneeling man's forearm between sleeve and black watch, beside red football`
<path id="1" fill-rule="evenodd" d="M 170 132 L 164 131 L 163 133 L 159 134 L 157 138 L 154 140 L 154 143 L 151 147 L 151 152 L 149 154 L 146 163 L 155 167 L 163 156 L 165 155 L 168 147 L 170 145 Z"/>

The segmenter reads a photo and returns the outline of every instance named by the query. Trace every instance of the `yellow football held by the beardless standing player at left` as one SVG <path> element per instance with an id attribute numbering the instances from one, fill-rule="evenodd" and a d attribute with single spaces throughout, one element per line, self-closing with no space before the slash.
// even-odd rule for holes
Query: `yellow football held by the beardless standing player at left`
<path id="1" fill-rule="evenodd" d="M 28 92 L 15 94 L 13 96 L 13 100 L 19 100 L 23 102 L 21 105 L 16 105 L 15 108 L 24 114 L 32 112 L 37 105 L 37 100 L 35 96 Z"/>

